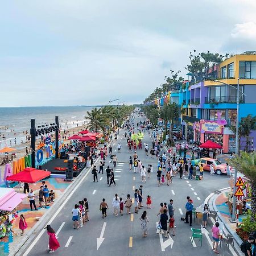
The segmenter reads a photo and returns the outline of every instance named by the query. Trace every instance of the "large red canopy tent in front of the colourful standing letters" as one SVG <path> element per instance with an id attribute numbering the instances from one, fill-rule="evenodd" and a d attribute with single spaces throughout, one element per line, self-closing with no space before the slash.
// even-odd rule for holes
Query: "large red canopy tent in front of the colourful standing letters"
<path id="1" fill-rule="evenodd" d="M 42 171 L 35 168 L 25 168 L 18 174 L 11 175 L 6 178 L 6 180 L 10 181 L 19 181 L 19 182 L 26 182 L 26 183 L 35 183 L 36 181 L 42 180 L 45 177 L 51 175 L 49 171 Z"/>

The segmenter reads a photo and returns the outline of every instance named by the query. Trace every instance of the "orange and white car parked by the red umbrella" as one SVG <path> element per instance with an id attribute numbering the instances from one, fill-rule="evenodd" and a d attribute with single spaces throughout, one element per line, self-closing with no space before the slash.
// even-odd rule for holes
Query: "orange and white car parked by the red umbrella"
<path id="1" fill-rule="evenodd" d="M 210 171 L 210 164 L 213 163 L 214 171 L 217 175 L 226 174 L 226 164 L 222 164 L 219 160 L 214 158 L 200 158 L 191 161 L 193 166 L 201 166 L 203 164 L 205 171 Z M 233 172 L 233 168 L 230 166 L 230 172 Z"/>

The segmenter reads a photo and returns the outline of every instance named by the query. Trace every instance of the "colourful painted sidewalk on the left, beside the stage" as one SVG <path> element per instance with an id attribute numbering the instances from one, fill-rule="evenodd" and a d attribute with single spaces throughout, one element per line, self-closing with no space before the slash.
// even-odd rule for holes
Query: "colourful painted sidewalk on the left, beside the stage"
<path id="1" fill-rule="evenodd" d="M 66 182 L 60 178 L 51 177 L 44 180 L 46 181 L 49 190 L 52 189 L 55 192 L 55 200 L 58 200 L 58 198 L 64 194 L 65 189 L 69 186 L 69 184 L 71 184 L 70 182 Z M 0 242 L 0 255 L 9 255 L 9 253 L 11 254 L 12 251 L 15 251 L 16 246 L 22 240 L 22 238 L 28 236 L 28 232 L 35 226 L 40 218 L 48 212 L 49 208 L 51 208 L 51 205 L 55 204 L 51 203 L 47 208 L 39 208 L 38 191 L 41 185 L 42 180 L 38 181 L 35 184 L 30 184 L 30 189 L 33 189 L 33 191 L 35 192 L 35 202 L 38 210 L 30 210 L 30 203 L 27 197 L 22 201 L 22 203 L 18 205 L 18 215 L 20 216 L 20 214 L 23 214 L 28 225 L 28 228 L 25 230 L 24 236 L 20 236 L 18 217 L 13 222 L 13 236 L 6 236 Z M 14 189 L 16 192 L 23 193 L 23 189 L 19 189 L 18 187 L 15 187 Z"/>

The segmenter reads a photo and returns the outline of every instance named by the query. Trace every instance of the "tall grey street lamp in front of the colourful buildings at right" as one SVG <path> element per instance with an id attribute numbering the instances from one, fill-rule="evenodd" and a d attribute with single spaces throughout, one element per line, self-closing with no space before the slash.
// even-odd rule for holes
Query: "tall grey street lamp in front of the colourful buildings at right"
<path id="1" fill-rule="evenodd" d="M 238 148 L 239 148 L 239 140 L 238 140 L 238 129 L 239 129 L 239 93 L 241 92 L 244 96 L 245 93 L 243 93 L 240 89 L 239 89 L 239 77 L 237 79 L 237 87 L 230 85 L 230 84 L 226 84 L 226 82 L 222 82 L 222 81 L 218 81 L 218 80 L 214 80 L 214 79 L 208 79 L 210 81 L 214 81 L 214 82 L 220 82 L 221 84 L 225 84 L 228 85 L 234 89 L 237 90 L 237 118 L 236 118 L 236 155 L 238 155 Z M 229 219 L 230 222 L 236 222 L 236 182 L 237 182 L 237 169 L 235 169 L 234 172 L 234 187 L 233 187 L 233 207 L 232 207 L 232 218 Z"/>

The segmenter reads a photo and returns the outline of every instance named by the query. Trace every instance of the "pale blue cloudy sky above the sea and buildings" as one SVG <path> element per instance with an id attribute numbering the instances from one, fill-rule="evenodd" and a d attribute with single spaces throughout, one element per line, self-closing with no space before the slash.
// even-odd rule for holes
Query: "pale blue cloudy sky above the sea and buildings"
<path id="1" fill-rule="evenodd" d="M 142 103 L 189 52 L 256 51 L 255 0 L 23 0 L 0 9 L 0 107 Z"/>

